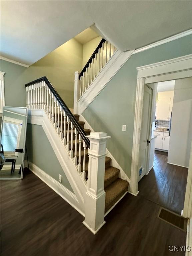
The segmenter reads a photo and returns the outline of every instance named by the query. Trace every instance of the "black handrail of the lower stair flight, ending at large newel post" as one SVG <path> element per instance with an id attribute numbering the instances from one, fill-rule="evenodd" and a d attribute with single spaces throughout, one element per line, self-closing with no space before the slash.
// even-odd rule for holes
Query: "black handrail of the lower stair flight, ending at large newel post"
<path id="1" fill-rule="evenodd" d="M 53 85 L 50 83 L 50 81 L 47 79 L 46 76 L 43 76 L 41 78 L 38 78 L 30 83 L 25 84 L 25 87 L 28 87 L 32 84 L 36 84 L 39 82 L 44 81 L 47 86 L 49 87 L 49 89 L 51 90 L 51 92 L 53 93 L 53 95 L 55 96 L 55 98 L 58 100 L 59 104 L 61 105 L 61 107 L 63 108 L 63 110 L 66 112 L 67 116 L 69 117 L 70 121 L 73 123 L 74 127 L 77 129 L 78 133 L 81 135 L 81 138 L 85 141 L 85 143 L 87 144 L 88 148 L 89 148 L 89 140 L 87 139 L 86 133 L 83 130 L 83 128 L 80 126 L 80 124 L 78 123 L 78 121 L 75 119 L 74 115 L 71 113 L 71 111 L 69 110 L 69 108 L 67 107 L 67 105 L 65 104 L 65 102 L 61 99 L 61 97 L 59 96 L 58 92 L 55 90 L 55 88 L 53 87 Z"/>

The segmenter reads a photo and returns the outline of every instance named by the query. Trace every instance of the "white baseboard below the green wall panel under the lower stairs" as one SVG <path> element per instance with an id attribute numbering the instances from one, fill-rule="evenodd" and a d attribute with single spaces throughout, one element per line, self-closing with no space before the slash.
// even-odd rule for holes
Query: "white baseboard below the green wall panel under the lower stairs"
<path id="1" fill-rule="evenodd" d="M 51 189 L 53 189 L 59 196 L 61 196 L 67 203 L 69 203 L 75 210 L 85 217 L 85 214 L 79 209 L 79 201 L 75 194 L 53 179 L 46 172 L 41 170 L 37 165 L 29 162 L 29 169 Z"/>

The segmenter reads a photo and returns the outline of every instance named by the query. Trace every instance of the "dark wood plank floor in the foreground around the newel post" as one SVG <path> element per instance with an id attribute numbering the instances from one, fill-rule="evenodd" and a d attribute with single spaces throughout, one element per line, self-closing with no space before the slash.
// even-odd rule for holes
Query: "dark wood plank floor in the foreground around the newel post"
<path id="1" fill-rule="evenodd" d="M 157 218 L 159 206 L 126 196 L 93 235 L 83 216 L 33 173 L 1 181 L 1 256 L 171 256 L 186 233 Z"/>

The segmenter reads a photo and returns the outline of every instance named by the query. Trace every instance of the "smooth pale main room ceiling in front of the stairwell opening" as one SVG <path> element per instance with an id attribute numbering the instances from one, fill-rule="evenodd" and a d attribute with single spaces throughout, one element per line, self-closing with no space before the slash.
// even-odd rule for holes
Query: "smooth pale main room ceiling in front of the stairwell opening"
<path id="1" fill-rule="evenodd" d="M 31 65 L 95 24 L 122 51 L 191 28 L 192 1 L 0 1 L 1 56 Z"/>

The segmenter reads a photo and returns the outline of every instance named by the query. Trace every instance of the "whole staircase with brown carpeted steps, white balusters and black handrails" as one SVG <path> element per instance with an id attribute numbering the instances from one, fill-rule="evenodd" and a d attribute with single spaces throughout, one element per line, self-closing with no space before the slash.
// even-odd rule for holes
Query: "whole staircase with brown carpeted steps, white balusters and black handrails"
<path id="1" fill-rule="evenodd" d="M 85 95 L 115 50 L 102 39 L 82 72 L 78 76 L 76 73 L 74 99 Z M 30 115 L 34 111 L 35 118 L 36 110 L 43 113 L 42 121 L 37 119 L 38 124 L 42 125 L 74 191 L 66 200 L 85 216 L 83 224 L 96 234 L 105 224 L 104 217 L 128 192 L 129 186 L 120 178 L 124 175 L 119 165 L 116 167 L 120 169 L 111 166 L 112 155 L 111 158 L 106 156 L 106 143 L 110 137 L 103 132 L 85 129 L 85 122 L 79 121 L 78 114 L 71 113 L 46 77 L 25 87 Z"/>

